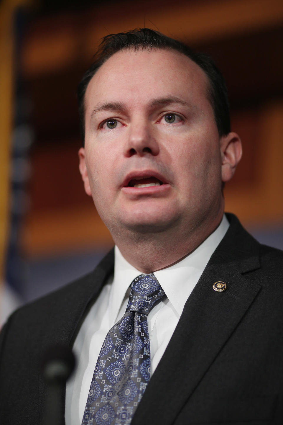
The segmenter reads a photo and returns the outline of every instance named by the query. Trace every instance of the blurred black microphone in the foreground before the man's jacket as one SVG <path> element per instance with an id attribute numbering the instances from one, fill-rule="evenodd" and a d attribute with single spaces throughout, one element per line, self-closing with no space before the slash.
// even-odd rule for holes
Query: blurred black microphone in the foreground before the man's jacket
<path id="1" fill-rule="evenodd" d="M 64 425 L 66 381 L 75 368 L 73 351 L 62 345 L 50 346 L 42 358 L 42 375 L 47 384 L 42 425 Z"/>

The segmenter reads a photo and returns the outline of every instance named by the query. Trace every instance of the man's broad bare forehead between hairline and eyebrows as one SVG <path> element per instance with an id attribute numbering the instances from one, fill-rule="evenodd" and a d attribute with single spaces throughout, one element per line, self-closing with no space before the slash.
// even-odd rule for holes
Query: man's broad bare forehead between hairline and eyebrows
<path id="1" fill-rule="evenodd" d="M 205 72 L 184 54 L 169 49 L 122 50 L 98 69 L 85 94 L 85 110 L 101 102 L 129 102 L 178 96 L 199 105 L 207 99 Z M 189 99 L 188 99 L 189 98 Z"/>

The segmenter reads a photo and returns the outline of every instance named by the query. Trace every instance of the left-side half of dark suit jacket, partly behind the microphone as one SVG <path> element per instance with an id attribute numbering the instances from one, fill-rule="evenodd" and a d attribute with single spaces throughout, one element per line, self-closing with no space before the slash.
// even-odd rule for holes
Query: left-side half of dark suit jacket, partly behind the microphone
<path id="1" fill-rule="evenodd" d="M 51 345 L 73 345 L 84 314 L 113 266 L 112 250 L 93 272 L 21 307 L 8 319 L 0 336 L 1 424 L 41 422 L 46 391 L 41 359 Z"/>

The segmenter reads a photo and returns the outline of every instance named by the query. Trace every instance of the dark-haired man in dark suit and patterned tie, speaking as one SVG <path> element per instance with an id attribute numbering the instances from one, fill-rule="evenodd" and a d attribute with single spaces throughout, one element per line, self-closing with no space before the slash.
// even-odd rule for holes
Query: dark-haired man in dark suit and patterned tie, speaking
<path id="1" fill-rule="evenodd" d="M 12 315 L 2 333 L 3 423 L 40 423 L 39 364 L 58 342 L 78 360 L 66 424 L 282 423 L 282 253 L 224 215 L 241 141 L 219 71 L 155 31 L 111 35 L 79 102 L 80 172 L 115 241 L 114 275 L 111 252 Z M 131 310 L 141 282 L 165 292 L 147 315 Z M 139 333 L 127 342 L 122 324 L 133 317 Z"/>

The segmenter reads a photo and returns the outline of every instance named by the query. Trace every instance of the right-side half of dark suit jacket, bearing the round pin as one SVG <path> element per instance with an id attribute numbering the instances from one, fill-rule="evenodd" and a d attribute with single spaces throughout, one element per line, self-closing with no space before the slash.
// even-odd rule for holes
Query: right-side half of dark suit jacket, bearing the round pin
<path id="1" fill-rule="evenodd" d="M 228 218 L 132 425 L 283 423 L 283 252 Z"/>

